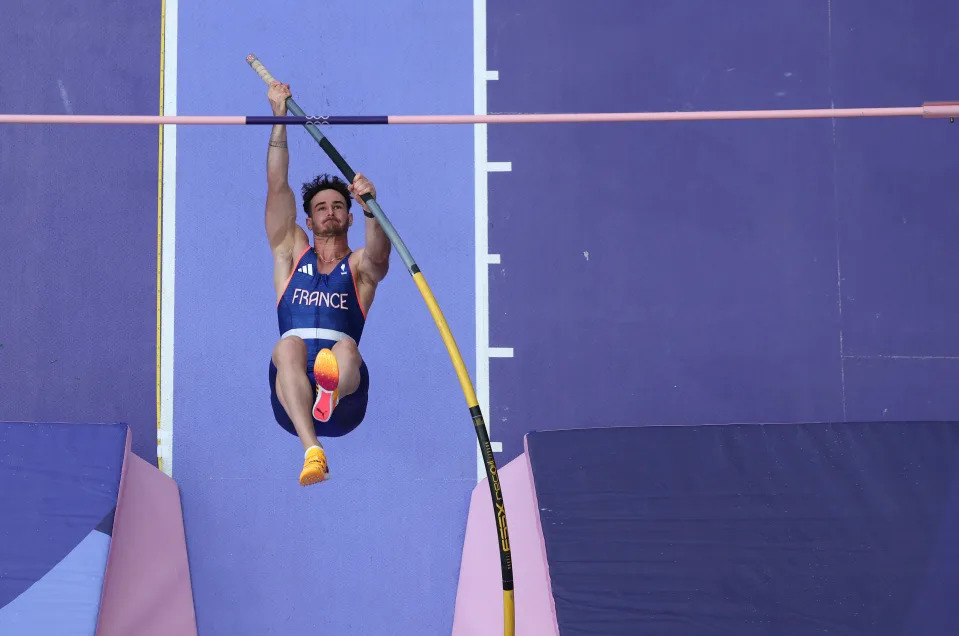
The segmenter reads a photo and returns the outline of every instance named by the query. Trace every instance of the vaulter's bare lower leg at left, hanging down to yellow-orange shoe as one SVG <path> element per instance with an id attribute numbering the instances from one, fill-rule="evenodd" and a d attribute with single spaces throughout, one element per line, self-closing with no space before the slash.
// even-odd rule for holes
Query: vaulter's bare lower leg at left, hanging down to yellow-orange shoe
<path id="1" fill-rule="evenodd" d="M 303 449 L 319 446 L 313 429 L 313 386 L 306 375 L 306 343 L 296 336 L 282 338 L 273 348 L 276 395 L 293 421 Z"/>

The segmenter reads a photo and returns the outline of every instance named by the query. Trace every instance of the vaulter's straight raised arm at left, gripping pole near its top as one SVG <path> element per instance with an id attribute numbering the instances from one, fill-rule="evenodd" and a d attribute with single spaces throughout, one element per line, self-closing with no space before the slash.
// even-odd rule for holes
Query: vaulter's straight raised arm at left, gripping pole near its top
<path id="1" fill-rule="evenodd" d="M 273 82 L 268 93 L 273 114 L 286 115 L 287 84 Z M 266 235 L 270 249 L 277 255 L 289 252 L 293 258 L 296 234 L 296 198 L 288 180 L 290 152 L 286 145 L 286 126 L 274 125 L 266 155 Z M 292 263 L 291 263 L 292 266 Z"/>

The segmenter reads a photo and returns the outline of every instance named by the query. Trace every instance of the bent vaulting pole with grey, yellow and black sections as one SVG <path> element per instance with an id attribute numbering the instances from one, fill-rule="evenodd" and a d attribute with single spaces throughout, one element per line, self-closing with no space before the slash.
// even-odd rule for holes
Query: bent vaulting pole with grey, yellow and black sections
<path id="1" fill-rule="evenodd" d="M 266 82 L 267 85 L 270 85 L 271 82 L 275 81 L 273 75 L 270 74 L 270 72 L 265 66 L 263 66 L 263 64 L 255 55 L 251 54 L 247 56 L 246 61 L 263 79 L 263 81 Z M 293 113 L 298 117 L 306 117 L 306 114 L 297 105 L 292 97 L 288 97 L 286 99 L 286 108 L 288 112 Z M 312 135 L 317 141 L 317 143 L 320 144 L 320 147 L 326 152 L 333 163 L 336 164 L 336 167 L 340 169 L 340 172 L 343 173 L 343 176 L 346 177 L 350 183 L 353 183 L 356 173 L 346 162 L 346 160 L 343 159 L 340 153 L 337 152 L 336 148 L 333 147 L 333 144 L 330 143 L 329 139 L 327 139 L 326 136 L 320 132 L 320 129 L 317 128 L 316 124 L 306 123 L 304 126 L 307 132 L 309 132 L 310 135 Z M 453 367 L 456 369 L 460 386 L 462 387 L 463 394 L 466 397 L 466 403 L 469 407 L 470 416 L 473 419 L 473 428 L 476 431 L 476 437 L 479 440 L 480 450 L 483 453 L 483 463 L 486 467 L 486 477 L 487 481 L 489 482 L 490 496 L 493 500 L 493 511 L 496 515 L 496 529 L 499 534 L 500 566 L 503 574 L 503 630 L 506 636 L 513 636 L 516 629 L 515 610 L 513 606 L 513 560 L 510 552 L 509 533 L 506 527 L 506 507 L 503 503 L 503 493 L 502 489 L 500 488 L 499 475 L 496 470 L 496 459 L 493 457 L 493 449 L 490 445 L 489 434 L 486 430 L 486 422 L 483 420 L 483 413 L 476 400 L 476 393 L 473 390 L 473 383 L 470 380 L 469 372 L 466 370 L 466 364 L 463 362 L 463 357 L 460 355 L 459 348 L 456 346 L 456 341 L 453 339 L 453 335 L 450 332 L 449 325 L 447 325 L 446 319 L 443 317 L 443 312 L 440 311 L 439 305 L 436 303 L 436 299 L 433 296 L 433 292 L 430 290 L 429 285 L 426 284 L 426 279 L 423 277 L 423 273 L 413 260 L 413 256 L 406 248 L 406 245 L 403 243 L 403 240 L 400 238 L 399 234 L 397 234 L 393 224 L 390 223 L 388 218 L 386 218 L 386 214 L 383 213 L 383 210 L 373 198 L 373 195 L 364 194 L 362 198 L 363 201 L 365 201 L 369 206 L 373 216 L 376 217 L 380 227 L 382 227 L 383 231 L 386 232 L 390 242 L 394 247 L 396 247 L 396 251 L 399 253 L 400 258 L 403 259 L 403 263 L 406 265 L 406 268 L 413 277 L 417 288 L 420 290 L 420 294 L 422 294 L 423 299 L 426 301 L 426 305 L 429 307 L 430 314 L 433 316 L 433 320 L 436 322 L 436 326 L 440 331 L 440 335 L 443 337 L 446 350 L 450 355 L 450 359 L 453 361 Z"/>

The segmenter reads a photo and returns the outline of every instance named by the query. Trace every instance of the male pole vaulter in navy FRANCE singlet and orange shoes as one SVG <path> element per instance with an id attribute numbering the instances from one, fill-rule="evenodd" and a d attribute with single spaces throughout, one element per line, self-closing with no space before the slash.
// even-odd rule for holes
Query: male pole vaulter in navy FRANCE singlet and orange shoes
<path id="1" fill-rule="evenodd" d="M 289 84 L 273 82 L 267 97 L 273 114 L 286 115 Z M 280 340 L 270 360 L 276 421 L 299 436 L 306 450 L 300 484 L 329 476 L 317 439 L 345 435 L 366 415 L 369 372 L 357 345 L 377 284 L 389 269 L 390 241 L 362 200 L 376 190 L 362 174 L 347 185 L 319 175 L 303 184 L 306 228 L 296 223 L 296 199 L 288 183 L 286 126 L 274 125 L 267 151 L 266 234 L 273 252 Z M 363 206 L 366 246 L 350 249 L 352 195 Z"/>

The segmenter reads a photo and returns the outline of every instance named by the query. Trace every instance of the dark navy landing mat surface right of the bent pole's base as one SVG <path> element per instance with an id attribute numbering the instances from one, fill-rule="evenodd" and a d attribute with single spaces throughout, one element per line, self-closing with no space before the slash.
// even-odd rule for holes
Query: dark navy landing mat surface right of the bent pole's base
<path id="1" fill-rule="evenodd" d="M 526 443 L 563 636 L 959 633 L 955 423 Z"/>

